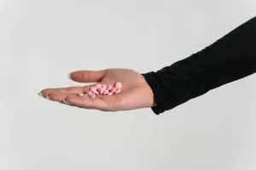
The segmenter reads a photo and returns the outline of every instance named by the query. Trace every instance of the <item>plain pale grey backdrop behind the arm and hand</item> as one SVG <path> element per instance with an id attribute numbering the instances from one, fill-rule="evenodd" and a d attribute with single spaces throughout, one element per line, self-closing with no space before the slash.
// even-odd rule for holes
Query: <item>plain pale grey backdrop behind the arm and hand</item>
<path id="1" fill-rule="evenodd" d="M 70 71 L 157 71 L 256 15 L 255 0 L 1 0 L 1 170 L 254 170 L 256 76 L 166 111 L 38 97 Z"/>

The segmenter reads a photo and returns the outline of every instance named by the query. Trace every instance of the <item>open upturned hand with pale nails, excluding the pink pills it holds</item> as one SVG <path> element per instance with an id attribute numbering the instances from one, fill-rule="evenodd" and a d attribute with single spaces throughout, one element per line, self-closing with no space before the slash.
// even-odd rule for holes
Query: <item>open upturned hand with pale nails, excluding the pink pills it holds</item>
<path id="1" fill-rule="evenodd" d="M 107 69 L 102 71 L 74 71 L 70 74 L 74 82 L 97 82 L 113 85 L 122 83 L 119 94 L 101 95 L 96 98 L 79 96 L 90 91 L 95 84 L 83 87 L 46 88 L 40 95 L 44 98 L 63 102 L 84 109 L 96 109 L 100 111 L 128 111 L 154 105 L 154 94 L 143 75 L 129 69 Z"/>

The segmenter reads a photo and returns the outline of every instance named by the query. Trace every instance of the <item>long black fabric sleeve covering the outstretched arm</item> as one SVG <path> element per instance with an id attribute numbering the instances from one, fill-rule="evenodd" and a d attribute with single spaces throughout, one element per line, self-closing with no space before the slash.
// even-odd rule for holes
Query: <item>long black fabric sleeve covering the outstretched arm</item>
<path id="1" fill-rule="evenodd" d="M 154 93 L 155 114 L 256 71 L 256 17 L 186 59 L 143 74 Z"/>

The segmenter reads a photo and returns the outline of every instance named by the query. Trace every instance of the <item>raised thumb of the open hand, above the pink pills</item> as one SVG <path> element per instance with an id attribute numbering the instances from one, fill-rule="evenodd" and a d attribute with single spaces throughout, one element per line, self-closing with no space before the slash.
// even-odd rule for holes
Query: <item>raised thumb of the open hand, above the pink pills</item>
<path id="1" fill-rule="evenodd" d="M 73 71 L 68 77 L 74 82 L 101 82 L 105 71 Z"/>

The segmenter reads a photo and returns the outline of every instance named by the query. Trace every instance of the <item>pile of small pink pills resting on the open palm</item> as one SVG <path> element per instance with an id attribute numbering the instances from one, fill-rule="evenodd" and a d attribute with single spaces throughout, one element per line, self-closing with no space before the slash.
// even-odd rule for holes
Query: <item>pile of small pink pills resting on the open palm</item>
<path id="1" fill-rule="evenodd" d="M 89 96 L 91 98 L 96 98 L 96 94 L 101 95 L 113 95 L 119 94 L 121 92 L 122 84 L 121 82 L 116 82 L 114 85 L 104 85 L 97 83 L 95 86 L 90 88 L 90 91 L 86 94 L 79 94 L 79 96 Z"/>

